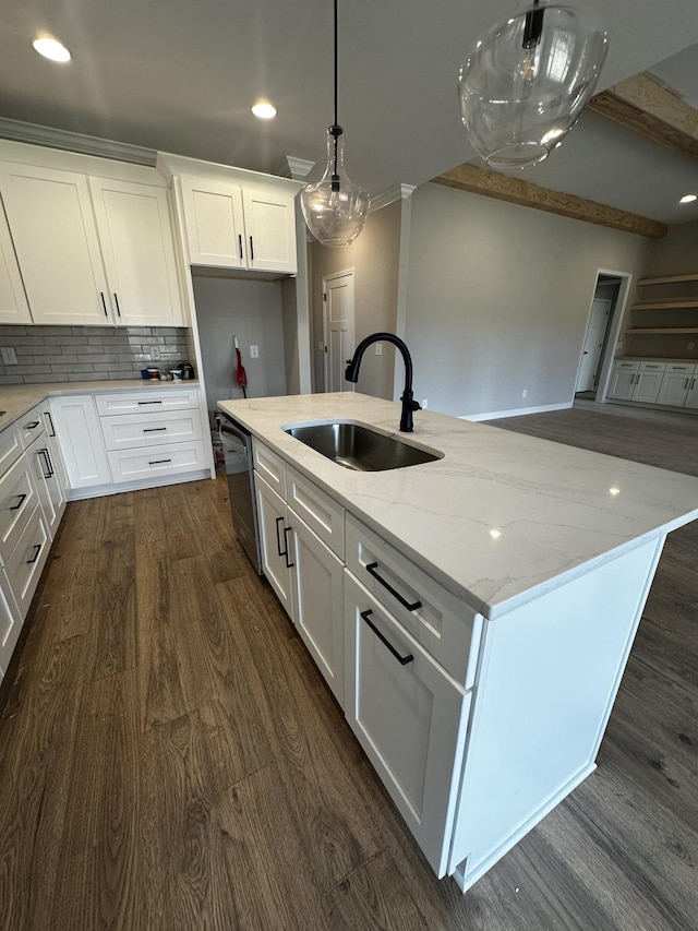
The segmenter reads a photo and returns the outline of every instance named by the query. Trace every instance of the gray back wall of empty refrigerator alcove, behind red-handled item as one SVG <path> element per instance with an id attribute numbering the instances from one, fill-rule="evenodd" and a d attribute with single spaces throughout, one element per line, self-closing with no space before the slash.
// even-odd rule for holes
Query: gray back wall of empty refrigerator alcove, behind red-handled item
<path id="1" fill-rule="evenodd" d="M 248 396 L 286 394 L 280 282 L 194 277 L 193 286 L 208 409 L 242 397 L 233 335 L 248 373 Z M 251 345 L 260 347 L 258 359 L 250 357 Z"/>

